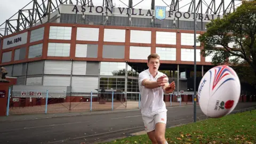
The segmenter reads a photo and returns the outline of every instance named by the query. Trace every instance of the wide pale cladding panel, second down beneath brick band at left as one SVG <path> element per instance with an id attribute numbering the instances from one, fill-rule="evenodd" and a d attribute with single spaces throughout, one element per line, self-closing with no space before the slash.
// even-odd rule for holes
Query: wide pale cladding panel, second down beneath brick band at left
<path id="1" fill-rule="evenodd" d="M 45 86 L 70 86 L 70 76 L 44 76 Z"/>

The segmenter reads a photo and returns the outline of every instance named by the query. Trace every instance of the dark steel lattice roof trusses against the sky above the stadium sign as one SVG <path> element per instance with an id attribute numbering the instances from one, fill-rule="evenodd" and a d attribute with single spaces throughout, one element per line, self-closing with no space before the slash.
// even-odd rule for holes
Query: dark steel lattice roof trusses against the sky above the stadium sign
<path id="1" fill-rule="evenodd" d="M 59 6 L 61 4 L 69 4 L 69 5 L 93 5 L 94 3 L 100 2 L 101 0 L 32 0 L 29 2 L 26 6 L 24 6 L 22 9 L 18 10 L 17 13 L 15 13 L 11 18 L 7 19 L 5 22 L 3 22 L 0 25 L 0 36 L 6 36 L 13 33 L 17 33 L 18 31 L 21 31 L 23 29 L 27 29 L 33 26 L 41 25 L 45 22 L 52 22 L 54 21 L 54 18 L 51 17 L 51 13 L 59 13 L 60 9 Z M 122 2 L 122 0 L 116 0 L 118 2 L 123 3 L 125 6 L 132 9 L 133 7 L 137 6 L 143 0 L 141 0 L 137 4 L 133 4 L 132 0 L 129 0 L 128 4 L 125 4 Z M 172 0 L 170 4 L 167 4 L 165 2 L 166 0 L 162 0 L 164 4 L 166 4 L 166 7 L 170 11 L 179 11 L 182 9 L 182 7 L 185 7 L 189 5 L 187 12 L 193 11 L 194 7 L 193 4 L 195 3 L 194 0 L 188 1 L 182 1 L 182 0 Z M 197 13 L 204 13 L 204 14 L 225 14 L 229 13 L 235 10 L 235 6 L 239 5 L 240 3 L 235 5 L 235 0 L 229 0 L 229 5 L 225 7 L 224 0 L 220 0 L 221 2 L 217 4 L 216 0 L 211 0 L 209 4 L 205 2 L 205 0 L 198 0 L 197 6 L 196 6 L 196 12 Z M 180 4 L 180 3 L 187 3 L 187 4 Z M 151 1 L 151 9 L 155 10 L 155 0 Z M 102 3 L 100 4 L 102 6 L 107 7 L 114 7 L 113 0 L 102 0 Z M 195 5 L 195 4 L 194 4 Z M 207 7 L 206 11 L 203 12 L 203 7 Z M 199 12 L 199 10 L 201 10 Z M 102 23 L 103 24 L 103 23 Z M 179 19 L 178 19 L 179 24 Z M 154 26 L 154 20 L 153 20 L 153 26 Z M 178 27 L 177 27 L 178 28 Z"/>

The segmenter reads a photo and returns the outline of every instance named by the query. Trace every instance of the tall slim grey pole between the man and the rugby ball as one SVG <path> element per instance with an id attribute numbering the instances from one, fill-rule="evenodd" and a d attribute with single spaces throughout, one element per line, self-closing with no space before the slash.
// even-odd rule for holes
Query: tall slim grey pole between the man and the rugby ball
<path id="1" fill-rule="evenodd" d="M 196 1 L 194 0 L 194 123 L 196 122 Z"/>

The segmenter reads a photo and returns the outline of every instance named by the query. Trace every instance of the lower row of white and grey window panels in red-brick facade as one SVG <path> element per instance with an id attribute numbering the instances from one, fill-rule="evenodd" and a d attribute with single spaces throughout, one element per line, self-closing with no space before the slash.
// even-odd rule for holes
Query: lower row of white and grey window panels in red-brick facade
<path id="1" fill-rule="evenodd" d="M 28 58 L 37 58 L 42 56 L 43 44 L 29 46 Z M 130 46 L 130 59 L 146 60 L 151 52 L 151 47 L 146 46 Z M 161 57 L 161 60 L 176 60 L 176 49 L 171 47 L 156 47 L 156 53 Z M 201 61 L 200 50 L 196 50 L 196 61 Z M 118 45 L 103 45 L 103 58 L 124 59 L 124 46 Z M 69 57 L 69 43 L 49 43 L 47 56 L 49 57 Z M 26 47 L 21 47 L 14 51 L 14 61 L 22 60 L 26 57 Z M 78 58 L 98 58 L 97 44 L 77 44 L 75 57 Z M 4 52 L 2 62 L 10 62 L 12 51 Z M 206 62 L 210 62 L 211 57 L 206 57 Z M 181 49 L 181 61 L 194 61 L 194 49 Z"/>

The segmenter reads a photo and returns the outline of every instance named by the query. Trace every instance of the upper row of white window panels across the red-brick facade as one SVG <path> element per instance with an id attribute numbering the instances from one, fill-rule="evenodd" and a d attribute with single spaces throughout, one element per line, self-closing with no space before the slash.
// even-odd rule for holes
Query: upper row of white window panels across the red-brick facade
<path id="1" fill-rule="evenodd" d="M 57 27 L 51 26 L 49 39 L 71 39 L 71 27 Z M 104 29 L 104 42 L 125 42 L 125 29 Z M 27 43 L 27 32 L 19 35 L 15 35 L 4 39 L 3 49 L 22 45 Z M 197 34 L 199 36 L 199 34 Z M 78 41 L 99 41 L 99 28 L 77 28 L 76 34 Z M 44 27 L 31 30 L 29 42 L 40 41 L 44 38 Z M 14 41 L 15 43 L 8 43 Z M 157 44 L 172 44 L 176 45 L 176 33 L 157 31 L 156 32 L 156 43 Z M 8 41 L 8 42 L 7 42 Z M 130 36 L 131 43 L 151 43 L 151 31 L 144 30 L 131 30 Z M 181 33 L 181 45 L 194 45 L 194 35 Z M 199 46 L 200 43 L 197 43 Z"/>

